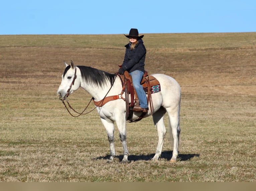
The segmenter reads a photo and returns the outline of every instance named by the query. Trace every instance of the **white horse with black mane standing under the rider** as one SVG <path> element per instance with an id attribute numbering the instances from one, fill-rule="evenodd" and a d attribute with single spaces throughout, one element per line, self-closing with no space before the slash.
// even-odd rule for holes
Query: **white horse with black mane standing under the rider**
<path id="1" fill-rule="evenodd" d="M 118 95 L 122 90 L 122 83 L 119 77 L 115 74 L 87 67 L 75 66 L 71 61 L 71 65 L 66 65 L 66 69 L 62 75 L 62 81 L 57 91 L 59 99 L 64 100 L 74 91 L 82 87 L 86 90 L 95 101 L 102 100 L 106 94 Z M 154 74 L 160 83 L 161 91 L 151 94 L 154 111 L 149 109 L 144 117 L 152 114 L 154 125 L 158 133 L 158 144 L 156 152 L 152 160 L 158 160 L 162 152 L 162 146 L 166 129 L 164 125 L 164 115 L 167 112 L 169 117 L 169 131 L 173 136 L 173 152 L 170 162 L 176 162 L 178 156 L 178 143 L 179 143 L 179 110 L 180 110 L 180 97 L 181 90 L 179 84 L 171 77 L 164 74 Z M 95 105 L 97 107 L 97 105 Z M 114 146 L 114 122 L 116 122 L 120 140 L 123 144 L 124 157 L 122 163 L 128 161 L 128 149 L 126 145 L 126 103 L 119 96 L 119 99 L 109 101 L 101 107 L 97 107 L 101 121 L 106 128 L 108 140 L 110 144 L 110 159 L 107 162 L 113 162 L 115 157 Z M 133 120 L 138 119 L 141 115 L 140 112 L 133 113 Z"/>

